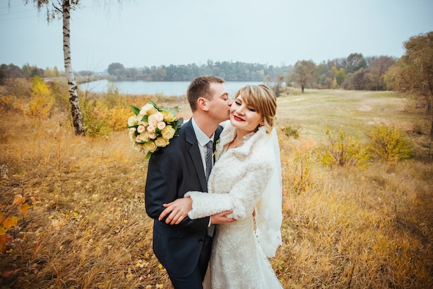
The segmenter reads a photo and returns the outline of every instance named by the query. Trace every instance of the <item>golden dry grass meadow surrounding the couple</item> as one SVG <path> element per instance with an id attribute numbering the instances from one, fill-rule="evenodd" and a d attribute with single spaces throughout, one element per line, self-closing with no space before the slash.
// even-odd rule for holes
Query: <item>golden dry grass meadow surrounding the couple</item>
<path id="1" fill-rule="evenodd" d="M 155 100 L 190 117 L 185 97 L 114 95 L 86 94 L 82 106 L 93 100 L 101 117 L 108 110 L 98 102 L 109 98 L 111 119 L 126 123 L 129 104 Z M 0 97 L 0 208 L 3 219 L 19 218 L 1 235 L 0 289 L 172 288 L 151 250 L 147 160 L 127 129 L 74 136 L 65 102 L 47 120 L 26 113 L 26 96 Z M 367 147 L 378 124 L 405 131 L 410 158 L 325 165 L 319 157 L 342 131 L 343 144 Z M 433 287 L 430 124 L 391 92 L 295 89 L 278 98 L 283 245 L 270 262 L 284 288 Z M 30 205 L 25 218 L 16 195 Z"/>

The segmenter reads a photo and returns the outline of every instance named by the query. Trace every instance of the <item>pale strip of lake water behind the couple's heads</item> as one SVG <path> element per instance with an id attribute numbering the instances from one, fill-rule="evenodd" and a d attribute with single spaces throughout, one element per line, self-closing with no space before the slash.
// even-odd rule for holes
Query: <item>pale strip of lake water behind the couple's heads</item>
<path id="1" fill-rule="evenodd" d="M 184 95 L 190 82 L 143 82 L 125 81 L 109 82 L 108 80 L 98 80 L 80 84 L 82 90 L 95 93 L 107 93 L 109 84 L 118 88 L 120 93 L 130 94 L 163 94 L 163 95 Z M 233 97 L 234 94 L 246 84 L 262 84 L 263 82 L 225 82 L 228 93 Z"/>

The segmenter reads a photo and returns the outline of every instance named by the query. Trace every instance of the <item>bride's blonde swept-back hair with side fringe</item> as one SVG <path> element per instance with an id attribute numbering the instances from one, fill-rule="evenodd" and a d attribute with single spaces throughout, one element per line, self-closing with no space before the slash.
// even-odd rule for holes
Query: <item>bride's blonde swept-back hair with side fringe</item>
<path id="1" fill-rule="evenodd" d="M 277 97 L 275 93 L 265 84 L 243 86 L 234 99 L 241 95 L 242 100 L 255 111 L 260 113 L 264 119 L 266 133 L 270 133 L 275 125 L 275 114 L 277 113 Z"/>

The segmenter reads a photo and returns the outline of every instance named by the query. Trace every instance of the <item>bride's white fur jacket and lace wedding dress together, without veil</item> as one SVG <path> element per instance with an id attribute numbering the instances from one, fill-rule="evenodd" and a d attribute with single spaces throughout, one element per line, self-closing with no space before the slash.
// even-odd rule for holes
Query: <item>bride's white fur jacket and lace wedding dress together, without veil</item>
<path id="1" fill-rule="evenodd" d="M 210 258 L 212 289 L 282 288 L 257 241 L 252 216 L 273 174 L 275 158 L 266 149 L 269 135 L 262 127 L 257 133 L 246 136 L 241 147 L 225 151 L 235 135 L 236 129 L 231 125 L 221 133 L 216 147 L 218 160 L 208 183 L 209 193 L 185 194 L 193 201 L 188 216 L 201 218 L 233 209 L 231 217 L 237 220 L 216 226 Z M 281 196 L 281 192 L 279 194 Z M 279 232 L 279 227 L 277 230 Z"/>

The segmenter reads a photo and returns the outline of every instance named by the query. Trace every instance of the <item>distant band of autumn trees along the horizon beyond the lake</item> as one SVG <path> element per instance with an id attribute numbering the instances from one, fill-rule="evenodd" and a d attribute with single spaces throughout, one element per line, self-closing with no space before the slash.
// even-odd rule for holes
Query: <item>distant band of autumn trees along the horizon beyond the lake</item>
<path id="1" fill-rule="evenodd" d="M 169 66 L 151 66 L 143 68 L 125 68 L 118 62 L 107 68 L 113 81 L 142 80 L 158 82 L 189 82 L 199 75 L 216 75 L 226 81 L 273 83 L 276 93 L 284 91 L 285 86 L 304 88 L 344 88 L 351 90 L 387 89 L 385 72 L 396 63 L 394 57 L 364 57 L 361 53 L 352 53 L 348 57 L 336 58 L 315 64 L 311 60 L 296 62 L 294 66 L 272 66 L 268 64 L 250 64 L 245 62 L 212 62 L 207 64 L 187 64 Z M 54 68 L 38 68 L 25 64 L 22 68 L 14 64 L 1 64 L 0 84 L 8 78 L 17 77 L 59 77 L 63 71 Z M 92 71 L 75 72 L 77 82 L 87 82 L 104 77 Z"/>

